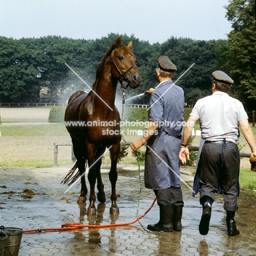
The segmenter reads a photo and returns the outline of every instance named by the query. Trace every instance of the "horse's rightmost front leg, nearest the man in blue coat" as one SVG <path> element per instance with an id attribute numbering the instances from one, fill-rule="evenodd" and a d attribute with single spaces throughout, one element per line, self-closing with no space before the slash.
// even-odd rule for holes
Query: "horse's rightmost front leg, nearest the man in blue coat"
<path id="1" fill-rule="evenodd" d="M 119 208 L 117 206 L 117 194 L 115 192 L 115 184 L 117 183 L 118 173 L 117 173 L 117 162 L 120 152 L 120 143 L 115 144 L 110 149 L 111 153 L 111 168 L 108 174 L 109 181 L 111 183 L 111 207 L 109 213 L 118 214 Z"/>

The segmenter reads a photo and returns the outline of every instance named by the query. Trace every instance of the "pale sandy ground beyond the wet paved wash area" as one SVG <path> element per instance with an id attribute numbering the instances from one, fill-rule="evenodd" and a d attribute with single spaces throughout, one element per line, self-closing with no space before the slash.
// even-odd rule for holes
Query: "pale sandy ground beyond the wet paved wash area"
<path id="1" fill-rule="evenodd" d="M 0 108 L 0 116 L 2 122 L 11 122 L 7 125 L 35 125 L 48 124 L 50 108 Z M 50 124 L 49 124 L 50 125 Z M 0 125 L 1 132 L 1 125 Z M 127 142 L 132 142 L 140 136 L 125 136 Z M 194 146 L 199 146 L 200 137 L 194 139 Z M 0 160 L 53 160 L 54 159 L 54 143 L 55 142 L 71 142 L 68 133 L 66 136 L 1 136 L 0 137 Z M 241 139 L 240 144 L 246 143 L 245 139 Z M 249 146 L 245 146 L 242 152 L 251 152 Z M 129 149 L 129 156 L 131 155 Z M 58 160 L 71 160 L 71 147 L 59 147 Z M 242 168 L 250 168 L 248 158 L 241 159 Z"/>

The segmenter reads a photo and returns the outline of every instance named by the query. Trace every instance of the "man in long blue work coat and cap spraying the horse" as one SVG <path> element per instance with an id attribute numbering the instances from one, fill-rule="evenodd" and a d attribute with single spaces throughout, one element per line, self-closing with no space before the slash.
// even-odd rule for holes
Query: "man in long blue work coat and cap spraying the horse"
<path id="1" fill-rule="evenodd" d="M 183 196 L 180 180 L 179 150 L 184 114 L 183 89 L 172 82 L 176 66 L 167 56 L 159 58 L 156 77 L 159 85 L 151 94 L 144 135 L 131 144 L 136 151 L 147 142 L 144 182 L 153 189 L 160 208 L 158 223 L 148 225 L 152 231 L 182 230 Z"/>

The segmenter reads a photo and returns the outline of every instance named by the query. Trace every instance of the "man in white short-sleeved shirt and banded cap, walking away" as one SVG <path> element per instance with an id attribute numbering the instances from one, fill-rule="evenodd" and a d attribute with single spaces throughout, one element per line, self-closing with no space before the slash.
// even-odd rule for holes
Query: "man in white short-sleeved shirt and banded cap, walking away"
<path id="1" fill-rule="evenodd" d="M 194 178 L 193 196 L 200 191 L 203 207 L 199 232 L 209 230 L 214 193 L 222 193 L 228 235 L 240 234 L 236 228 L 235 211 L 238 210 L 240 154 L 237 146 L 241 128 L 252 156 L 256 156 L 256 143 L 242 103 L 227 92 L 233 80 L 223 71 L 214 71 L 211 96 L 196 102 L 184 128 L 180 159 L 189 159 L 188 143 L 194 124 L 200 121 L 201 142 Z"/>

